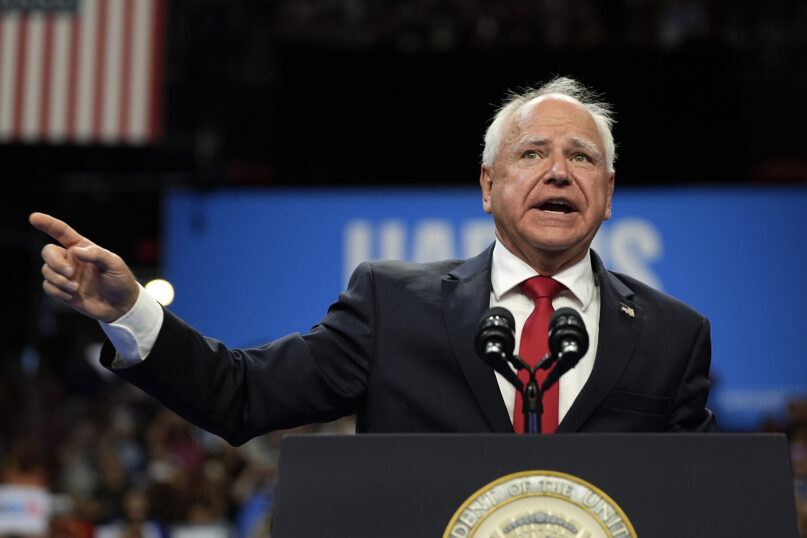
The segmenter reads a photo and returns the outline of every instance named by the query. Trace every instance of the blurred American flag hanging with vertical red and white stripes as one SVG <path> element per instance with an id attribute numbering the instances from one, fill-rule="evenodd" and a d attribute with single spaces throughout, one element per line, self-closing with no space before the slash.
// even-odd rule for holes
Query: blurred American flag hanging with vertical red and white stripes
<path id="1" fill-rule="evenodd" d="M 0 142 L 146 144 L 167 0 L 0 0 Z"/>

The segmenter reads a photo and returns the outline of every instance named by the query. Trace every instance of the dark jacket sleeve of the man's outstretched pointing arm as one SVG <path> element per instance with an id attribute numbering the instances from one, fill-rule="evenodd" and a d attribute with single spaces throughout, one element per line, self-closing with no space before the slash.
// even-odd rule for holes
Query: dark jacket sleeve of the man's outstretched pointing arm
<path id="1" fill-rule="evenodd" d="M 272 430 L 335 420 L 355 413 L 364 400 L 374 295 L 372 269 L 362 264 L 308 334 L 251 349 L 229 349 L 166 310 L 149 356 L 113 371 L 233 445 Z M 114 355 L 107 341 L 102 364 L 109 368 Z"/>

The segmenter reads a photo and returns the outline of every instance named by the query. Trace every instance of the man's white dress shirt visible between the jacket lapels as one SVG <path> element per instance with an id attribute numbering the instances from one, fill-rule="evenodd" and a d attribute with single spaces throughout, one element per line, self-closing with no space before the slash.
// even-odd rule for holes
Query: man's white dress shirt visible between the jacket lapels
<path id="1" fill-rule="evenodd" d="M 535 303 L 521 292 L 519 284 L 538 275 L 525 261 L 507 250 L 499 240 L 493 247 L 493 266 L 490 280 L 490 306 L 501 306 L 513 314 L 516 320 L 516 353 L 521 343 L 521 329 L 532 313 Z M 563 307 L 574 308 L 583 318 L 588 331 L 588 351 L 577 365 L 563 374 L 560 378 L 558 400 L 558 422 L 563 420 L 572 406 L 583 385 L 586 384 L 591 369 L 594 367 L 594 357 L 597 355 L 597 337 L 600 327 L 600 289 L 594 280 L 594 271 L 591 268 L 591 251 L 574 264 L 564 269 L 552 278 L 566 286 L 552 301 L 555 310 Z M 496 372 L 502 398 L 513 420 L 513 408 L 516 400 L 516 389 L 503 375 Z"/>

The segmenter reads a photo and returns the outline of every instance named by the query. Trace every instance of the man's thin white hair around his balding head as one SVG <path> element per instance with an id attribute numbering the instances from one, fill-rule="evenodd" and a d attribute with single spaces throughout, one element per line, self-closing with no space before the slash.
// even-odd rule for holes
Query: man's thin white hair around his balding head
<path id="1" fill-rule="evenodd" d="M 555 77 L 537 88 L 527 88 L 520 92 L 510 92 L 496 111 L 493 121 L 485 131 L 485 149 L 482 152 L 482 163 L 492 165 L 502 143 L 504 128 L 507 122 L 521 107 L 542 95 L 560 94 L 571 97 L 583 105 L 594 118 L 605 146 L 605 163 L 609 172 L 614 171 L 616 161 L 616 144 L 611 128 L 616 120 L 610 104 L 599 101 L 599 96 L 576 80 L 569 77 Z"/>

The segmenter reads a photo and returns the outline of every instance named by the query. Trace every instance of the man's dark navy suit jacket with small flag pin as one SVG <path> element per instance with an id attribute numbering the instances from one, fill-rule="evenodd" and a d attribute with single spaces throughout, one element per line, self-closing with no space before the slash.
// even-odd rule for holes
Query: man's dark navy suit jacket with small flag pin
<path id="1" fill-rule="evenodd" d="M 512 432 L 495 375 L 473 345 L 489 307 L 491 254 L 363 263 L 308 334 L 256 349 L 229 350 L 166 311 L 149 357 L 115 371 L 233 444 L 351 414 L 359 432 Z M 708 320 L 606 271 L 594 253 L 592 264 L 597 356 L 558 432 L 715 430 L 705 407 Z M 102 362 L 113 354 L 107 343 Z"/>

